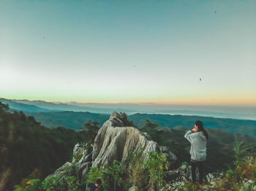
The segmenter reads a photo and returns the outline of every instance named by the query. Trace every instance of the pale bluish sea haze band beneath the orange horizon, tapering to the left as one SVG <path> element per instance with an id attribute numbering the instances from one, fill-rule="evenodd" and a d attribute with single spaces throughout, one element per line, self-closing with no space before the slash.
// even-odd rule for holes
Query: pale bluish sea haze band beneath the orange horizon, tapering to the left
<path id="1" fill-rule="evenodd" d="M 67 102 L 73 106 L 86 106 L 98 109 L 109 109 L 108 113 L 127 112 L 127 114 L 184 114 L 204 117 L 220 117 L 240 120 L 256 120 L 256 106 L 186 106 L 186 105 L 159 105 L 159 104 L 82 104 Z"/>

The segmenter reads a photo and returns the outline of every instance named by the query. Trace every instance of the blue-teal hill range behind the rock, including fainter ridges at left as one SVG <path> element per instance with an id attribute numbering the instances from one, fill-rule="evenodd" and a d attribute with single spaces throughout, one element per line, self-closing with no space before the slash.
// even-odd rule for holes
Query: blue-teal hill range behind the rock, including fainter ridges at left
<path id="1" fill-rule="evenodd" d="M 99 126 L 101 127 L 110 116 L 110 111 L 108 112 L 108 109 L 106 108 L 99 109 L 61 103 L 50 103 L 46 101 L 14 101 L 3 98 L 0 98 L 0 101 L 3 104 L 9 104 L 10 109 L 24 111 L 27 115 L 31 115 L 35 117 L 37 121 L 42 122 L 42 125 L 50 128 L 62 126 L 79 129 L 89 120 L 99 122 Z M 83 112 L 80 112 L 80 110 Z M 105 113 L 103 111 L 105 111 Z M 111 112 L 113 111 L 114 109 Z M 129 114 L 129 112 L 127 112 L 127 114 Z M 256 120 L 235 120 L 181 114 L 140 113 L 129 114 L 128 118 L 129 120 L 132 120 L 134 125 L 138 126 L 138 128 L 143 127 L 145 120 L 157 123 L 161 128 L 175 128 L 178 126 L 192 128 L 196 120 L 202 120 L 206 128 L 222 129 L 230 133 L 241 133 L 256 137 Z"/>

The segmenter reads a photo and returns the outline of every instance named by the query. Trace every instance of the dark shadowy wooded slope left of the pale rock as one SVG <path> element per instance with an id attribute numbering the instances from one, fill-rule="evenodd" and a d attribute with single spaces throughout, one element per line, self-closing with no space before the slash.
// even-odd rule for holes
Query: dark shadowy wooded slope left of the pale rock
<path id="1" fill-rule="evenodd" d="M 85 141 L 86 132 L 68 128 L 45 128 L 23 112 L 8 112 L 0 103 L 0 179 L 2 190 L 12 190 L 34 173 L 44 179 L 56 168 L 72 159 L 72 149 Z M 24 181 L 26 182 L 26 181 Z M 34 183 L 33 183 L 34 185 Z M 17 188 L 18 189 L 18 188 Z"/>

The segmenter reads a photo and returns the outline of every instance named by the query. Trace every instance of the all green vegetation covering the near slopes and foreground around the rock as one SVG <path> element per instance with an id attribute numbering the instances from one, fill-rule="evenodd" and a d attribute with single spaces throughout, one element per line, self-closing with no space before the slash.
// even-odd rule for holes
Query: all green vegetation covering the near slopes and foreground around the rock
<path id="1" fill-rule="evenodd" d="M 121 116 L 124 125 L 134 126 L 127 114 L 121 113 Z M 190 144 L 184 140 L 186 128 L 160 128 L 150 120 L 144 121 L 141 127 L 140 130 L 148 133 L 158 144 L 170 147 L 182 164 L 187 165 Z M 126 190 L 130 186 L 137 190 L 160 190 L 165 186 L 165 171 L 169 164 L 166 154 L 157 152 L 150 152 L 146 161 L 143 161 L 143 152 L 138 151 L 130 153 L 122 164 L 114 160 L 110 165 L 91 168 L 86 180 L 78 177 L 75 163 L 67 166 L 65 175 L 48 176 L 72 157 L 78 162 L 85 155 L 78 153 L 72 156 L 76 143 L 80 142 L 84 150 L 91 152 L 98 130 L 99 123 L 93 120 L 86 122 L 78 131 L 63 127 L 45 128 L 34 117 L 27 117 L 23 112 L 11 113 L 7 105 L 0 103 L 0 190 L 81 191 L 86 183 L 97 179 L 102 179 L 102 186 L 111 191 L 121 187 Z M 230 165 L 224 179 L 214 189 L 253 190 L 256 187 L 255 139 L 243 135 L 235 137 L 223 130 L 207 130 L 210 139 L 206 173 L 223 171 L 227 164 Z M 222 163 L 217 163 L 219 161 Z M 124 167 L 129 167 L 129 171 L 123 171 Z M 46 176 L 48 178 L 45 179 Z M 245 178 L 252 182 L 245 183 Z M 201 190 L 201 187 L 187 182 L 178 190 Z"/>

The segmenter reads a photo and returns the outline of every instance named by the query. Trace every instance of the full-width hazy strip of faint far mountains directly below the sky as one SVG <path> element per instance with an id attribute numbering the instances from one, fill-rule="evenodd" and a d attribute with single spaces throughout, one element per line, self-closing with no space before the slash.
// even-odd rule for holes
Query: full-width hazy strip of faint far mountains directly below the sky
<path id="1" fill-rule="evenodd" d="M 72 111 L 72 112 L 94 112 L 101 114 L 111 114 L 113 111 L 126 112 L 127 114 L 182 114 L 196 115 L 203 117 L 219 117 L 241 120 L 256 120 L 256 106 L 186 106 L 186 105 L 160 105 L 153 103 L 146 104 L 97 104 L 71 102 L 47 102 L 29 100 L 10 100 L 0 98 L 0 101 L 14 101 L 20 104 L 38 106 L 41 109 Z M 19 110 L 23 110 L 20 106 Z M 35 112 L 26 110 L 26 112 Z M 36 111 L 37 112 L 37 111 Z"/>

